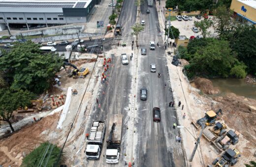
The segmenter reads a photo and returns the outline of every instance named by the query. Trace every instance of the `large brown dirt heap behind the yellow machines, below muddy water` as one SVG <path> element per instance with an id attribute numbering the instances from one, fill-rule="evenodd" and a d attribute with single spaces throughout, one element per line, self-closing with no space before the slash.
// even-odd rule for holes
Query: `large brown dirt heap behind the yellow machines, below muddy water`
<path id="1" fill-rule="evenodd" d="M 214 109 L 223 111 L 225 123 L 251 142 L 256 142 L 256 100 L 227 93 L 223 97 L 213 97 L 219 103 Z"/>

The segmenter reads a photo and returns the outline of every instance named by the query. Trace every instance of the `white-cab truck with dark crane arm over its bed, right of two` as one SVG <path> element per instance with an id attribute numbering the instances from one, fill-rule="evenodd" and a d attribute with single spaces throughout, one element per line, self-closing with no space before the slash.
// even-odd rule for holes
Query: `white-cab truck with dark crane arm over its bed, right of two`
<path id="1" fill-rule="evenodd" d="M 110 116 L 106 149 L 106 163 L 118 163 L 122 139 L 122 114 Z"/>

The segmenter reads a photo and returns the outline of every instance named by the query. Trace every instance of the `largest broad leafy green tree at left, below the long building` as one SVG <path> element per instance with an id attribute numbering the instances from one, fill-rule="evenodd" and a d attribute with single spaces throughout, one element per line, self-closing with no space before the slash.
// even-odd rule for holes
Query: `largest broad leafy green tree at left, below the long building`
<path id="1" fill-rule="evenodd" d="M 0 71 L 11 89 L 37 94 L 49 88 L 62 60 L 58 55 L 43 54 L 39 47 L 32 41 L 15 43 L 9 53 L 0 57 Z"/>

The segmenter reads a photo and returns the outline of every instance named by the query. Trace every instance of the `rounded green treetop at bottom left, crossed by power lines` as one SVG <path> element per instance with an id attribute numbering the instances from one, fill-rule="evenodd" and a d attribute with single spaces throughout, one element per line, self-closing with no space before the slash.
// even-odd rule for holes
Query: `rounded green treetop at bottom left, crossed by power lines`
<path id="1" fill-rule="evenodd" d="M 58 160 L 61 148 L 55 144 L 44 142 L 35 148 L 22 161 L 21 167 L 54 167 Z"/>

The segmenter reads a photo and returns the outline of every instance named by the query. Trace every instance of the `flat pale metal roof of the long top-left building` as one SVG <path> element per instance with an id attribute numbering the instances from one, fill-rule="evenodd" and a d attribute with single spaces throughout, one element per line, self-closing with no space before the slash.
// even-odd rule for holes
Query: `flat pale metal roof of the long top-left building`
<path id="1" fill-rule="evenodd" d="M 92 0 L 0 0 L 0 8 L 86 8 Z"/>

